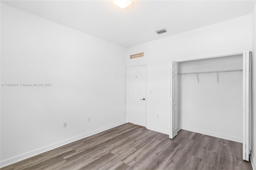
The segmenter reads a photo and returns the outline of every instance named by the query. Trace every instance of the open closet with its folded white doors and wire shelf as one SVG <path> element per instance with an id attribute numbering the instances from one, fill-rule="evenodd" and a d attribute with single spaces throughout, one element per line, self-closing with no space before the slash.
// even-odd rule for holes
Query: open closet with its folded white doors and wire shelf
<path id="1" fill-rule="evenodd" d="M 174 138 L 177 130 L 184 129 L 240 142 L 243 159 L 248 160 L 250 55 L 245 51 L 170 62 L 170 138 Z"/>

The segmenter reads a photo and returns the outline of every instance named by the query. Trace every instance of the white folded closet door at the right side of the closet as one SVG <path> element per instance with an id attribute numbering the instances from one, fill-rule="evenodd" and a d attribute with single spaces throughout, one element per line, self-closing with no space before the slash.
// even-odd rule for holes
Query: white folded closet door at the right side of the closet
<path id="1" fill-rule="evenodd" d="M 251 56 L 243 53 L 243 160 L 249 161 L 251 140 Z"/>

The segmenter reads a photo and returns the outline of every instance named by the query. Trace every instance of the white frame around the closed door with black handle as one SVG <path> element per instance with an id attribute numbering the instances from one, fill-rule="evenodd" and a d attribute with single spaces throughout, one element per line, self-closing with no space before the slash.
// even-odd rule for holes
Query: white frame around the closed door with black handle
<path id="1" fill-rule="evenodd" d="M 129 123 L 128 121 L 128 69 L 131 67 L 140 67 L 145 66 L 146 67 L 146 127 L 148 126 L 148 66 L 146 64 L 144 65 L 135 65 L 135 66 L 126 66 L 126 123 Z"/>

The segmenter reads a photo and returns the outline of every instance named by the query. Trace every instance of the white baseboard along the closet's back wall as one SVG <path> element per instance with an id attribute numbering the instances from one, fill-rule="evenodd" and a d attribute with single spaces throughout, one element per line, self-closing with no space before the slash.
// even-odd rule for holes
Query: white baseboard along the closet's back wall
<path id="1" fill-rule="evenodd" d="M 229 135 L 226 135 L 226 134 L 220 134 L 220 133 L 210 132 L 210 131 L 196 129 L 196 128 L 190 128 L 190 127 L 185 127 L 185 126 L 182 126 L 180 128 L 183 129 L 183 130 L 188 130 L 188 131 L 191 131 L 191 132 L 206 134 L 206 135 L 209 135 L 209 136 L 214 136 L 214 137 L 222 138 L 222 139 L 226 139 L 226 140 L 232 140 L 232 141 L 239 142 L 239 143 L 243 142 L 242 138 L 237 138 L 237 137 L 229 136 Z"/>

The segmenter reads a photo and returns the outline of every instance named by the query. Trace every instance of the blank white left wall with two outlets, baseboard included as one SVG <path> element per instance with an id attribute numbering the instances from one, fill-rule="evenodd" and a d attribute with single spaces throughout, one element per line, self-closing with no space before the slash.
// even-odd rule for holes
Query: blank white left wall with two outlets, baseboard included
<path id="1" fill-rule="evenodd" d="M 1 87 L 1 166 L 125 123 L 124 56 L 124 47 L 1 4 L 1 83 L 52 84 Z"/>

